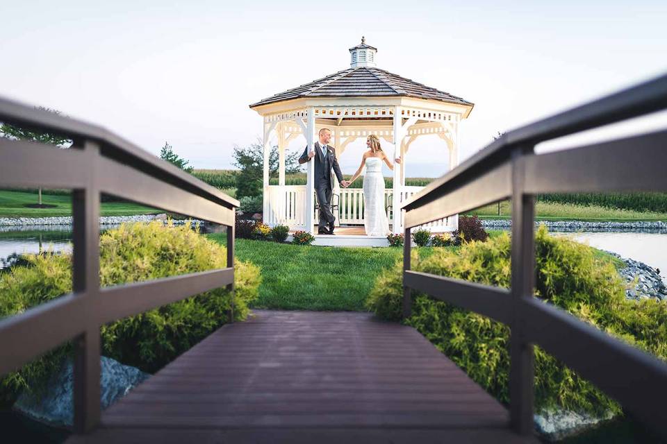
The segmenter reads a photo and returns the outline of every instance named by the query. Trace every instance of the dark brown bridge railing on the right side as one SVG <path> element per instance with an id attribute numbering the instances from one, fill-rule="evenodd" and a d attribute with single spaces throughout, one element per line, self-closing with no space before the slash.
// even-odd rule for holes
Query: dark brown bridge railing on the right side
<path id="1" fill-rule="evenodd" d="M 520 434 L 533 430 L 536 344 L 667 438 L 665 362 L 534 297 L 534 196 L 667 191 L 667 131 L 542 155 L 534 146 L 665 108 L 667 76 L 518 128 L 402 205 L 404 316 L 414 289 L 510 326 L 510 417 Z M 411 228 L 505 198 L 512 200 L 511 289 L 410 270 Z"/>

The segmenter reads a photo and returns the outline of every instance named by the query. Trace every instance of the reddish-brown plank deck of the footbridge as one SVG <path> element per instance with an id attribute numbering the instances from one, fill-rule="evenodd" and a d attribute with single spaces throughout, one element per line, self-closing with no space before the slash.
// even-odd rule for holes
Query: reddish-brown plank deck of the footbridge
<path id="1" fill-rule="evenodd" d="M 255 311 L 68 442 L 525 443 L 507 410 L 411 327 L 363 313 Z"/>

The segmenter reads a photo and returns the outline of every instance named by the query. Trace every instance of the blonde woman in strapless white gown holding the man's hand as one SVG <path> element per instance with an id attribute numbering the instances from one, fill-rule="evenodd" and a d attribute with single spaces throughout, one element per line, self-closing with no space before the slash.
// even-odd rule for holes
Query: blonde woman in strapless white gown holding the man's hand
<path id="1" fill-rule="evenodd" d="M 380 139 L 377 135 L 370 135 L 366 138 L 368 151 L 361 157 L 361 166 L 354 176 L 342 184 L 344 187 L 349 185 L 361 176 L 361 170 L 366 167 L 366 173 L 363 175 L 363 228 L 367 236 L 386 236 L 390 233 L 387 213 L 384 209 L 384 177 L 382 176 L 382 161 L 387 164 L 389 169 L 393 170 L 394 165 L 389 157 L 380 147 Z M 400 163 L 400 159 L 395 160 Z M 342 182 L 341 182 L 342 183 Z"/>

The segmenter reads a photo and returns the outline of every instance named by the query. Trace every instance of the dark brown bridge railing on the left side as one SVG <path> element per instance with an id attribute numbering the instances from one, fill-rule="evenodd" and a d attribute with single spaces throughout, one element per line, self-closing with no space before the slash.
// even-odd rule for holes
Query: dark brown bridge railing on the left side
<path id="1" fill-rule="evenodd" d="M 100 419 L 100 326 L 202 291 L 233 291 L 238 200 L 98 126 L 1 98 L 0 122 L 74 141 L 58 149 L 0 138 L 0 186 L 72 189 L 74 238 L 73 293 L 0 321 L 0 375 L 74 339 L 74 428 L 88 432 Z M 227 268 L 100 288 L 101 193 L 226 225 Z"/>

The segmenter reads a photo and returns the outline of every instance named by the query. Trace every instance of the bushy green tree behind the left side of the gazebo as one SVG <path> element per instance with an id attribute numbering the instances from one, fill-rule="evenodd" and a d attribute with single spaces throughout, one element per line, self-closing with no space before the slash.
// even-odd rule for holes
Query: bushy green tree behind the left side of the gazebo
<path id="1" fill-rule="evenodd" d="M 261 140 L 246 148 L 234 146 L 234 166 L 241 172 L 236 176 L 236 198 L 260 196 L 264 176 L 264 146 Z M 286 153 L 285 173 L 295 174 L 301 171 L 298 162 L 299 153 Z M 269 177 L 277 178 L 279 168 L 278 146 L 271 147 L 269 153 Z"/>

